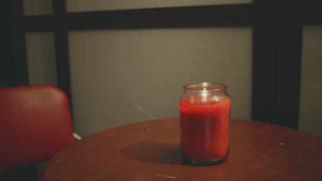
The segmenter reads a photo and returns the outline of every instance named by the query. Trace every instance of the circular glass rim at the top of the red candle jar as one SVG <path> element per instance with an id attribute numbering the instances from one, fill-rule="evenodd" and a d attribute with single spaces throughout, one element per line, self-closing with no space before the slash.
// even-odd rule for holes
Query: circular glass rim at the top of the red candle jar
<path id="1" fill-rule="evenodd" d="M 227 86 L 225 84 L 217 82 L 195 82 L 184 85 L 185 90 L 193 91 L 219 91 L 226 90 L 226 88 Z"/>

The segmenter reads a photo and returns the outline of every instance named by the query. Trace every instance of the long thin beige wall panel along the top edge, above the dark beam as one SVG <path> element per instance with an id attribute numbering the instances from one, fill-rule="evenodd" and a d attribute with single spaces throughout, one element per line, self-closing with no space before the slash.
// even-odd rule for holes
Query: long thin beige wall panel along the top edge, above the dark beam
<path id="1" fill-rule="evenodd" d="M 253 3 L 253 0 L 67 0 L 67 12 Z"/>

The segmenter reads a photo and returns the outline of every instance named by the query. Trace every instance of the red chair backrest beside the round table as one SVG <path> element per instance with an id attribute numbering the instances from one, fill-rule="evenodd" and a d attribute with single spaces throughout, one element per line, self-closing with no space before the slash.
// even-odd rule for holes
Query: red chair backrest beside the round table
<path id="1" fill-rule="evenodd" d="M 73 142 L 62 90 L 49 85 L 0 88 L 0 173 L 49 160 Z"/>

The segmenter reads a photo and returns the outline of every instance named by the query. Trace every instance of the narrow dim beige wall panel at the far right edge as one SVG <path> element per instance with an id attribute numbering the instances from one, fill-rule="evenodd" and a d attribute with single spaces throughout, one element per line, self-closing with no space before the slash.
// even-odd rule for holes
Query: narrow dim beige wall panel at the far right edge
<path id="1" fill-rule="evenodd" d="M 322 26 L 303 28 L 299 130 L 322 138 Z"/>

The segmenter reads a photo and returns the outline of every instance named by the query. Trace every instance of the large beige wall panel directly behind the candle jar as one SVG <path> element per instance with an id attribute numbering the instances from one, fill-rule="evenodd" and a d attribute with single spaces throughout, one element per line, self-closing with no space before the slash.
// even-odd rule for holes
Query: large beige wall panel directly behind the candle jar
<path id="1" fill-rule="evenodd" d="M 71 32 L 76 132 L 178 117 L 189 82 L 227 84 L 232 117 L 250 119 L 252 49 L 250 27 Z"/>

